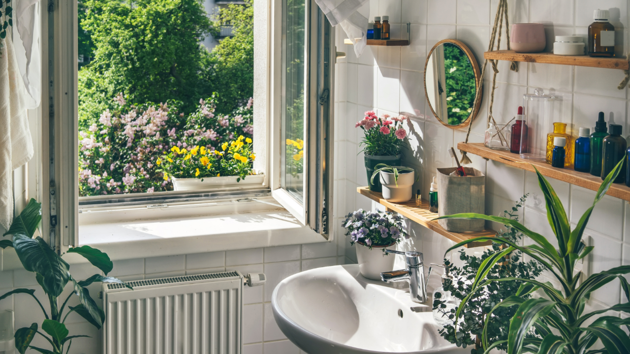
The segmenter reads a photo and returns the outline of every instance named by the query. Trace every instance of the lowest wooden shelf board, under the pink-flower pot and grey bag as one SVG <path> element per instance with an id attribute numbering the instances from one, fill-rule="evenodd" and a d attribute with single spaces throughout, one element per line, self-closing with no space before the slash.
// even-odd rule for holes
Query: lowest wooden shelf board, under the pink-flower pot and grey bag
<path id="1" fill-rule="evenodd" d="M 479 232 L 450 232 L 446 231 L 440 224 L 438 224 L 437 220 L 433 220 L 438 217 L 437 214 L 429 211 L 429 203 L 426 200 L 422 201 L 422 205 L 420 207 L 416 207 L 416 202 L 411 201 L 407 203 L 392 203 L 387 202 L 387 200 L 383 199 L 381 193 L 376 193 L 374 191 L 370 191 L 367 187 L 358 187 L 357 192 L 365 195 L 375 202 L 381 203 L 384 207 L 387 208 L 390 212 L 397 212 L 398 214 L 403 215 L 404 217 L 417 222 L 421 226 L 427 227 L 432 231 L 437 232 L 438 234 L 447 237 L 448 239 L 455 241 L 457 243 L 466 241 L 468 239 L 472 239 L 474 237 L 479 236 L 495 236 L 496 231 L 494 230 L 484 230 Z M 491 241 L 483 241 L 483 242 L 473 242 L 467 244 L 465 247 L 473 248 L 479 246 L 488 246 L 491 244 Z"/>

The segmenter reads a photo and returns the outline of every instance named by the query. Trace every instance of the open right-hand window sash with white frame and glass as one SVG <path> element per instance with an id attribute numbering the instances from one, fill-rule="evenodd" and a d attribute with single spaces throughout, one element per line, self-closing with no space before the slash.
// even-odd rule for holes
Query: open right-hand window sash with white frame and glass
<path id="1" fill-rule="evenodd" d="M 314 1 L 275 0 L 273 5 L 272 195 L 295 218 L 328 238 L 334 28 Z"/>

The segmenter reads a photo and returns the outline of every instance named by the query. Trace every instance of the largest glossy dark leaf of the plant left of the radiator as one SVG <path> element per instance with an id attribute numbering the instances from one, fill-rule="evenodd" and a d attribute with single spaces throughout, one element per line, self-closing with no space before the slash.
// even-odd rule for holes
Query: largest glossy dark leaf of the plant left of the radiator
<path id="1" fill-rule="evenodd" d="M 70 265 L 42 237 L 31 239 L 17 234 L 13 236 L 13 246 L 25 270 L 42 275 L 43 290 L 49 295 L 59 297 L 70 279 Z"/>

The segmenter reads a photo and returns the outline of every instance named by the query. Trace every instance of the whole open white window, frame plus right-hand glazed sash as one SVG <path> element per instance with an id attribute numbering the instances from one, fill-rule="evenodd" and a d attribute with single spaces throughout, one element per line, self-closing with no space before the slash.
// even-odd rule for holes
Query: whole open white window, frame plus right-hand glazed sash
<path id="1" fill-rule="evenodd" d="M 57 251 L 79 246 L 79 224 L 256 212 L 279 205 L 331 238 L 334 29 L 314 1 L 268 1 L 267 113 L 266 122 L 256 125 L 266 129 L 266 147 L 256 152 L 266 155 L 258 167 L 265 181 L 93 197 L 79 197 L 77 1 L 49 1 L 42 16 L 42 231 Z"/>

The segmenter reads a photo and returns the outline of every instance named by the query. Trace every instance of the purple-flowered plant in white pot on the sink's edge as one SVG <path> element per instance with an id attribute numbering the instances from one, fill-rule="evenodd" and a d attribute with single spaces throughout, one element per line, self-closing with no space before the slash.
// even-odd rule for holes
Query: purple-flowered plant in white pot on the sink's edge
<path id="1" fill-rule="evenodd" d="M 350 236 L 350 244 L 357 247 L 358 268 L 361 275 L 372 280 L 381 280 L 383 271 L 394 269 L 394 257 L 385 253 L 393 249 L 407 234 L 403 229 L 403 218 L 391 212 L 359 209 L 347 215 L 343 222 Z"/>

